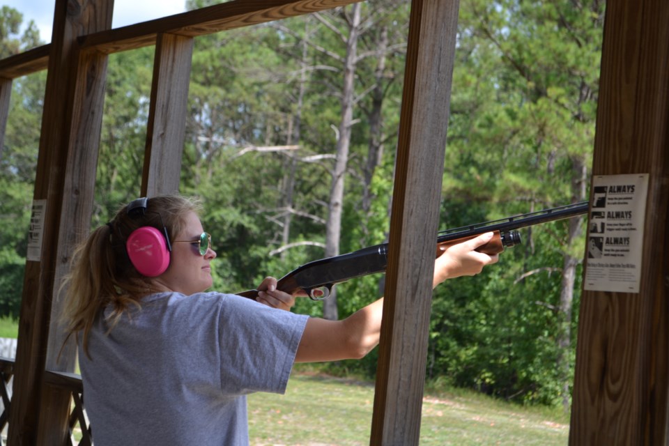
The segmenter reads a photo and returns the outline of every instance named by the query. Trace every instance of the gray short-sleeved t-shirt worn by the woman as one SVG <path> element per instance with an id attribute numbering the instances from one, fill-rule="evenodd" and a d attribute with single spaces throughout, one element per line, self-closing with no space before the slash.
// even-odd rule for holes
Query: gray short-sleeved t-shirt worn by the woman
<path id="1" fill-rule="evenodd" d="M 79 354 L 95 446 L 248 445 L 245 395 L 284 393 L 307 316 L 221 293 L 159 293 Z"/>

